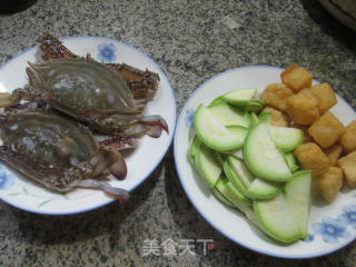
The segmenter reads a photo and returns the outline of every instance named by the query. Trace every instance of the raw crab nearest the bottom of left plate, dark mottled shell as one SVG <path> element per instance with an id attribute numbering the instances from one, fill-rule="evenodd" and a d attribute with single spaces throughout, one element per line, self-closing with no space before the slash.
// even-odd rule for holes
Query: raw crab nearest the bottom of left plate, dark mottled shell
<path id="1" fill-rule="evenodd" d="M 100 146 L 83 125 L 43 110 L 14 110 L 0 115 L 0 160 L 26 177 L 56 191 L 99 188 L 126 198 L 128 192 L 102 180 L 126 176 L 121 155 Z"/>

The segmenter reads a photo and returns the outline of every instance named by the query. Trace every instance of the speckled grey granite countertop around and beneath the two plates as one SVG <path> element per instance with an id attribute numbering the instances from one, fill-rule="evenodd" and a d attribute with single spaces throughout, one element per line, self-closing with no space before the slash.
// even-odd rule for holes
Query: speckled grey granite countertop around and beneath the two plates
<path id="1" fill-rule="evenodd" d="M 0 17 L 0 65 L 40 32 L 101 36 L 140 49 L 166 72 L 177 111 L 206 79 L 249 65 L 295 61 L 356 108 L 356 33 L 316 0 L 55 1 Z M 207 255 L 142 254 L 145 240 L 214 239 Z M 172 149 L 118 202 L 86 214 L 40 216 L 0 202 L 0 266 L 355 266 L 356 244 L 309 260 L 278 259 L 234 244 L 196 211 L 176 174 Z"/>

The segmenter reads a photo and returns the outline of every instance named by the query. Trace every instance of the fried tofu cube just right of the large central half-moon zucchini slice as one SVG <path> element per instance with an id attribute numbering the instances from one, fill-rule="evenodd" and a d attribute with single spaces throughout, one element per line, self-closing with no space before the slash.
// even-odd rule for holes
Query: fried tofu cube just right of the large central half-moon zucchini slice
<path id="1" fill-rule="evenodd" d="M 328 157 L 326 157 L 322 148 L 315 142 L 301 144 L 294 154 L 303 169 L 312 170 L 313 177 L 324 175 L 330 167 Z"/>

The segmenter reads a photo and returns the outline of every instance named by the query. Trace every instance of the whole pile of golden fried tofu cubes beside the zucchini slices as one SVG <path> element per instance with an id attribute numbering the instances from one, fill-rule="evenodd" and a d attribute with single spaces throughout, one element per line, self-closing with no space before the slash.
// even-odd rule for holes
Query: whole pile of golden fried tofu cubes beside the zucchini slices
<path id="1" fill-rule="evenodd" d="M 280 83 L 268 85 L 261 100 L 271 125 L 296 127 L 304 142 L 295 150 L 303 169 L 312 170 L 313 192 L 328 204 L 344 186 L 356 188 L 356 120 L 344 126 L 329 111 L 337 103 L 329 83 L 312 86 L 313 75 L 291 63 Z"/>

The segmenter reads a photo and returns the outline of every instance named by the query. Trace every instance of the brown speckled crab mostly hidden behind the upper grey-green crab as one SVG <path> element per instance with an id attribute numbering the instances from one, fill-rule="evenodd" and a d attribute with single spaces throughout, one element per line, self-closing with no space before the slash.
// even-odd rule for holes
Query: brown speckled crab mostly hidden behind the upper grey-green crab
<path id="1" fill-rule="evenodd" d="M 49 33 L 40 36 L 38 43 L 39 60 L 41 61 L 60 58 L 80 58 L 66 48 L 60 40 Z M 91 59 L 91 56 L 87 55 L 87 59 Z M 144 71 L 126 63 L 107 63 L 106 66 L 118 72 L 125 80 L 140 108 L 145 107 L 147 99 L 150 98 L 158 88 L 159 76 L 152 71 L 147 69 Z"/>

